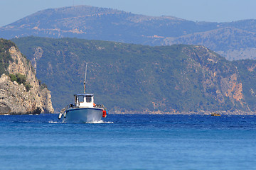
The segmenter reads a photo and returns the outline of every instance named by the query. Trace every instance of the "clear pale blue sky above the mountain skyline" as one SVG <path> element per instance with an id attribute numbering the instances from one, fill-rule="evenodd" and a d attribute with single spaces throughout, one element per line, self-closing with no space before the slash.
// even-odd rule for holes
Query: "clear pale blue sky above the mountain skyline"
<path id="1" fill-rule="evenodd" d="M 256 19 L 255 0 L 0 0 L 0 26 L 46 8 L 90 5 L 191 21 Z"/>

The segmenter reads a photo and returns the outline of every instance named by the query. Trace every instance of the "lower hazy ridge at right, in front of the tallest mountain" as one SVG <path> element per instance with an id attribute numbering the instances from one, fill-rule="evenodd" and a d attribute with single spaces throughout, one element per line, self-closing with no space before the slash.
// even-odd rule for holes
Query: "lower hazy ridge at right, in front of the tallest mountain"
<path id="1" fill-rule="evenodd" d="M 165 38 L 162 45 L 198 44 L 206 45 L 211 50 L 225 55 L 228 60 L 245 58 L 256 59 L 255 55 L 247 52 L 255 51 L 256 33 L 238 28 L 218 28 L 203 33 L 183 35 L 178 38 Z"/>

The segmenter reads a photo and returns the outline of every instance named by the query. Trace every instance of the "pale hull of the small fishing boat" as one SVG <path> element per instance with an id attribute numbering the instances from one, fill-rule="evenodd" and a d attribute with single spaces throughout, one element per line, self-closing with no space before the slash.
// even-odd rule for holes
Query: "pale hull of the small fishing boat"
<path id="1" fill-rule="evenodd" d="M 67 123 L 92 123 L 102 119 L 102 108 L 70 108 L 65 112 Z"/>

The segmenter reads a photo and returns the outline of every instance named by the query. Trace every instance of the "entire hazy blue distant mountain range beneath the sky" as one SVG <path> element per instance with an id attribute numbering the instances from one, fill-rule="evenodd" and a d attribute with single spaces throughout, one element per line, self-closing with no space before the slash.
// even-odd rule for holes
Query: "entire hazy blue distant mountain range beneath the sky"
<path id="1" fill-rule="evenodd" d="M 228 60 L 256 59 L 256 20 L 193 22 L 111 8 L 71 6 L 33 13 L 0 28 L 1 38 L 84 38 L 142 45 L 204 45 Z"/>

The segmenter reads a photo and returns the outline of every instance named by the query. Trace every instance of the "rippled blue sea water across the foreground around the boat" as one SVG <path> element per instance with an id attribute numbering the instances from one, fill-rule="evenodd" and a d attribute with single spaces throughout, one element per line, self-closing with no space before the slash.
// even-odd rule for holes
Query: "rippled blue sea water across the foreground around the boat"
<path id="1" fill-rule="evenodd" d="M 0 169 L 256 169 L 255 115 L 0 115 Z"/>

